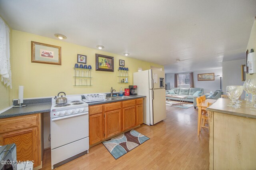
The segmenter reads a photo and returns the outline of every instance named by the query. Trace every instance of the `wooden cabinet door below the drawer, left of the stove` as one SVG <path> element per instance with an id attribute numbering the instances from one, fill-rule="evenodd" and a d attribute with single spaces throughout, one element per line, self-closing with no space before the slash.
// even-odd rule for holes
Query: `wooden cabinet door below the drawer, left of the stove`
<path id="1" fill-rule="evenodd" d="M 34 160 L 34 167 L 41 164 L 38 160 L 38 128 L 26 128 L 0 134 L 0 145 L 16 144 L 17 160 Z"/>

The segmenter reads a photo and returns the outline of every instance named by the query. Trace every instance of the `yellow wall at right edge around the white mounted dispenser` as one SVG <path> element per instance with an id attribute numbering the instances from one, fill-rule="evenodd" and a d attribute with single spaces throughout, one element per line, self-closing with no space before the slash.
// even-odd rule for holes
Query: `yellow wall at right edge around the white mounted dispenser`
<path id="1" fill-rule="evenodd" d="M 254 20 L 249 42 L 246 49 L 248 49 L 249 52 L 250 52 L 250 49 L 254 49 L 254 51 L 256 52 L 256 20 Z M 246 79 L 256 79 L 256 74 L 255 73 L 252 75 L 246 74 Z"/>

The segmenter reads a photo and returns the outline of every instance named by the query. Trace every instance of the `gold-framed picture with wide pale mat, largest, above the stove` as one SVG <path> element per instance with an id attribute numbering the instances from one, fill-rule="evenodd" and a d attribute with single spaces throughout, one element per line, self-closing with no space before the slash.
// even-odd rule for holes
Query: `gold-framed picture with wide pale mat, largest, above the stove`
<path id="1" fill-rule="evenodd" d="M 61 47 L 31 41 L 31 62 L 61 65 Z"/>

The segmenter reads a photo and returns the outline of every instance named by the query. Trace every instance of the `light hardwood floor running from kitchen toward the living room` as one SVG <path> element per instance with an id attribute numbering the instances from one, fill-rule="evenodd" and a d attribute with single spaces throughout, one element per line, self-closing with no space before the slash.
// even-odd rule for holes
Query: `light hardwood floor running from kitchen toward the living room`
<path id="1" fill-rule="evenodd" d="M 117 160 L 101 143 L 90 148 L 89 154 L 56 169 L 209 169 L 208 129 L 197 136 L 198 110 L 166 106 L 166 111 L 164 121 L 136 128 L 150 140 Z M 50 149 L 45 150 L 42 169 L 51 169 L 50 156 Z"/>

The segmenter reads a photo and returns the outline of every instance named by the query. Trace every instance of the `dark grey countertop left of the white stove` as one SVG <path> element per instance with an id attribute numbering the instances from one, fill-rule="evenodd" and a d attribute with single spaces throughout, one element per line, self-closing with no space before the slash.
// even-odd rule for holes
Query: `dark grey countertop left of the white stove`
<path id="1" fill-rule="evenodd" d="M 0 114 L 0 119 L 51 111 L 52 103 L 28 104 L 26 107 L 11 108 Z"/>

